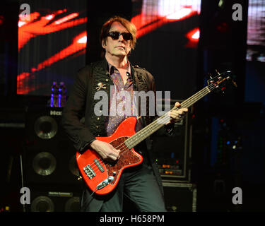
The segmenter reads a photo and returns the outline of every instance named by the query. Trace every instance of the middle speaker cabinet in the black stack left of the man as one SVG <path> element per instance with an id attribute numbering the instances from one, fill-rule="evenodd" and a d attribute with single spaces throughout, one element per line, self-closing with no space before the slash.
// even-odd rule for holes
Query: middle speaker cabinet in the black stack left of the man
<path id="1" fill-rule="evenodd" d="M 26 148 L 23 168 L 25 184 L 79 184 L 76 156 L 67 148 Z"/>

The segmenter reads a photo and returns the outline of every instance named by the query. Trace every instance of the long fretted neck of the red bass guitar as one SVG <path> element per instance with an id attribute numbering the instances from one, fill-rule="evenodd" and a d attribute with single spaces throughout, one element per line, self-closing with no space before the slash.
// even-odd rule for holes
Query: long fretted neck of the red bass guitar
<path id="1" fill-rule="evenodd" d="M 205 95 L 210 93 L 211 90 L 212 89 L 210 87 L 206 86 L 205 88 L 203 88 L 199 92 L 197 92 L 194 95 L 192 95 L 192 97 L 189 97 L 187 100 L 184 100 L 184 102 L 182 102 L 182 104 L 181 104 L 181 107 L 182 108 L 186 108 L 186 107 L 188 108 L 188 107 L 192 106 L 195 102 L 197 102 L 202 97 L 204 97 Z M 170 112 L 172 110 L 175 110 L 175 109 L 177 109 L 177 107 L 173 107 L 170 110 Z M 153 121 L 151 124 L 149 124 L 148 126 L 144 127 L 139 132 L 135 133 L 134 136 L 131 136 L 130 138 L 128 138 L 125 141 L 126 146 L 129 149 L 134 148 L 134 146 L 136 146 L 137 144 L 141 143 L 141 141 L 143 141 L 146 138 L 148 138 L 148 136 L 151 136 L 153 133 L 155 133 L 155 131 L 158 131 L 158 129 L 160 129 L 168 121 L 170 121 L 170 117 L 167 116 L 168 115 L 167 113 L 163 114 L 163 116 L 159 117 L 158 119 L 155 119 L 155 121 Z"/>

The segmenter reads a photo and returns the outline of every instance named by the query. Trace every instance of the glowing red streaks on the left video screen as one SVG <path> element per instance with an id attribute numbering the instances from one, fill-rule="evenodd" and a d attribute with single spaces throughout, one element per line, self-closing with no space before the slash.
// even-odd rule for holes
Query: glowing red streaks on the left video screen
<path id="1" fill-rule="evenodd" d="M 76 25 L 80 25 L 86 23 L 87 18 L 78 18 L 73 20 L 79 16 L 79 13 L 70 13 L 68 16 L 64 16 L 58 20 L 55 20 L 52 23 L 49 23 L 54 19 L 55 16 L 61 13 L 65 13 L 66 9 L 55 11 L 46 16 L 40 16 L 40 13 L 34 12 L 30 13 L 30 21 L 18 21 L 18 52 L 23 46 L 30 41 L 30 39 L 37 37 L 38 35 L 47 35 L 52 32 L 58 32 L 60 30 L 64 30 L 66 28 L 73 28 Z M 49 23 L 49 24 L 48 24 Z M 51 66 L 57 61 L 65 59 L 66 57 L 77 57 L 79 54 L 84 54 L 86 52 L 86 40 L 87 35 L 86 31 L 81 32 L 81 34 L 77 35 L 73 38 L 73 42 L 69 44 L 68 47 L 61 49 L 61 51 L 54 54 L 49 59 L 42 61 L 37 66 L 30 69 L 28 72 L 20 73 L 17 76 L 17 93 L 18 94 L 28 94 L 35 89 L 41 87 L 30 88 L 28 86 L 28 81 L 35 78 L 35 73 L 42 69 L 45 69 L 47 66 Z M 41 86 L 41 85 L 40 85 Z"/>

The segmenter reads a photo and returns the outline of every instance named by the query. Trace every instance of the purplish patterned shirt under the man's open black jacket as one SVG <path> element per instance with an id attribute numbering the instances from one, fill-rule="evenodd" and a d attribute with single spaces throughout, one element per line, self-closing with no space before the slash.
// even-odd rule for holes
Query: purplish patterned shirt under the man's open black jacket
<path id="1" fill-rule="evenodd" d="M 110 114 L 109 120 L 105 124 L 107 131 L 107 136 L 112 135 L 117 129 L 119 124 L 121 124 L 124 119 L 131 116 L 137 115 L 136 105 L 134 102 L 134 85 L 131 80 L 131 68 L 127 71 L 127 81 L 124 84 L 122 76 L 119 73 L 119 70 L 116 69 L 111 64 L 109 66 L 109 73 L 112 81 L 114 83 L 114 88 L 110 90 Z M 115 102 L 116 100 L 116 102 Z M 141 124 L 136 124 L 136 131 L 139 131 L 142 128 Z"/>

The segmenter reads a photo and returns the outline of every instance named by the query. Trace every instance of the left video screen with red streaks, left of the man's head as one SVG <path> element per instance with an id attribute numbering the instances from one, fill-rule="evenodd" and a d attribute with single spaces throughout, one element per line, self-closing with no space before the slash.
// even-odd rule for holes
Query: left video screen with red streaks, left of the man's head
<path id="1" fill-rule="evenodd" d="M 86 1 L 22 4 L 30 6 L 30 19 L 18 22 L 17 94 L 50 95 L 53 81 L 71 89 L 76 72 L 86 64 Z"/>

